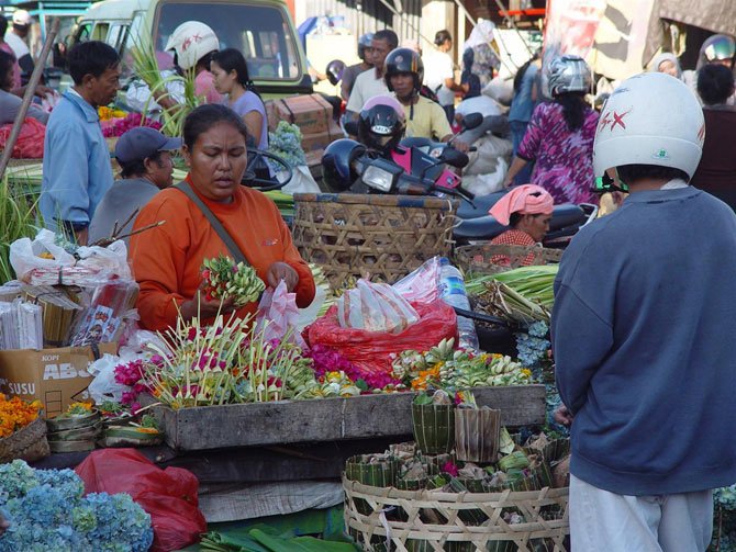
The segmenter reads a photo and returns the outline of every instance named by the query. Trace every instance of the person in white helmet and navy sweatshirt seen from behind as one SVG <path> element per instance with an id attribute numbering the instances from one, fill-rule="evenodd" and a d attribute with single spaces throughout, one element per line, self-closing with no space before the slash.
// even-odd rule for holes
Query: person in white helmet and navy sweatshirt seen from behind
<path id="1" fill-rule="evenodd" d="M 674 116 L 677 115 L 677 116 Z M 623 205 L 578 233 L 555 282 L 576 552 L 703 552 L 736 481 L 736 215 L 691 185 L 705 132 L 680 80 L 646 72 L 603 108 L 593 168 Z"/>

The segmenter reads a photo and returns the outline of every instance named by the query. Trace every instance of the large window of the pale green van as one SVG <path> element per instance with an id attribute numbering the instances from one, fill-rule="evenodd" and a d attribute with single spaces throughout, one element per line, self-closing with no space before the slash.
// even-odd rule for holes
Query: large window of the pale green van
<path id="1" fill-rule="evenodd" d="M 163 52 L 170 34 L 185 21 L 210 25 L 220 40 L 220 48 L 236 48 L 248 64 L 254 80 L 301 79 L 301 63 L 294 36 L 278 7 L 239 3 L 161 2 L 155 25 L 154 44 Z"/>

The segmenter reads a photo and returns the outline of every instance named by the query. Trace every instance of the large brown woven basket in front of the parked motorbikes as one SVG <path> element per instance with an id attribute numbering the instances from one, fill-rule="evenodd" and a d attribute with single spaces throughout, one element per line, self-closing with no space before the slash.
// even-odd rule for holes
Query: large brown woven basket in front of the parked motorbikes
<path id="1" fill-rule="evenodd" d="M 333 286 L 366 273 L 393 283 L 449 254 L 456 210 L 439 198 L 297 193 L 292 235 Z"/>

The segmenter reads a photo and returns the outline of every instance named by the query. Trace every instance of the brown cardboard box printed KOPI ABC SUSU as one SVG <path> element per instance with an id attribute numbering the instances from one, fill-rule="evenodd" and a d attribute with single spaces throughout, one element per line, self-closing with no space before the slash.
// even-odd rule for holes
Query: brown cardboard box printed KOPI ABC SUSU
<path id="1" fill-rule="evenodd" d="M 100 343 L 100 356 L 114 354 L 118 343 Z M 87 368 L 94 362 L 90 347 L 0 351 L 0 391 L 44 404 L 44 415 L 53 418 L 75 401 L 89 397 L 92 376 Z"/>

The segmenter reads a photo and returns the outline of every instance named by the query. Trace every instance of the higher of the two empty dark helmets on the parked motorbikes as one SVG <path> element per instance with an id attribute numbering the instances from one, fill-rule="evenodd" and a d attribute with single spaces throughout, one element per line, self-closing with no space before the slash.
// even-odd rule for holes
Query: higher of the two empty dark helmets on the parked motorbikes
<path id="1" fill-rule="evenodd" d="M 388 153 L 404 134 L 404 109 L 395 98 L 376 95 L 363 106 L 358 139 L 371 149 Z"/>

